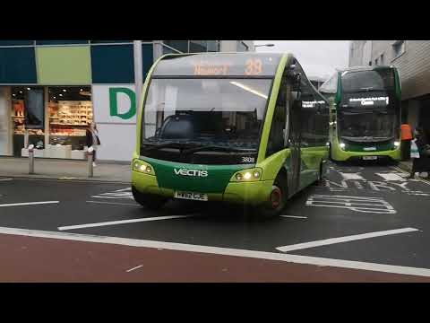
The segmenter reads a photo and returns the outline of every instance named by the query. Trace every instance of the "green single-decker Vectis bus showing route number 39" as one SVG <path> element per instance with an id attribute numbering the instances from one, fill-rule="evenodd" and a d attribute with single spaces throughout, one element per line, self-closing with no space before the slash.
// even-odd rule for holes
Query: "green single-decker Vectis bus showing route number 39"
<path id="1" fill-rule="evenodd" d="M 273 216 L 325 173 L 329 103 L 290 54 L 166 55 L 142 98 L 132 162 L 141 205 L 222 201 Z"/>

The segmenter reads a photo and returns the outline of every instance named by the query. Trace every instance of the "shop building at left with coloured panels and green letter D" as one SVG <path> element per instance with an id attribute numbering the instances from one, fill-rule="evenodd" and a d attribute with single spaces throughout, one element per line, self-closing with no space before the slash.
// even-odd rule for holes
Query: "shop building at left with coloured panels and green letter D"
<path id="1" fill-rule="evenodd" d="M 0 156 L 84 159 L 95 122 L 99 160 L 129 162 L 142 83 L 168 53 L 254 50 L 250 40 L 0 40 Z M 25 115 L 37 111 L 36 127 Z"/>

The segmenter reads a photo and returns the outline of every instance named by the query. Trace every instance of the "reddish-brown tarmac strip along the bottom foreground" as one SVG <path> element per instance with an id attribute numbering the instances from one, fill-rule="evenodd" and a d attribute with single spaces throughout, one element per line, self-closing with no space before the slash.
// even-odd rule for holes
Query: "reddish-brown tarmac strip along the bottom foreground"
<path id="1" fill-rule="evenodd" d="M 0 282 L 430 282 L 422 276 L 9 234 L 0 234 L 0 264 Z"/>

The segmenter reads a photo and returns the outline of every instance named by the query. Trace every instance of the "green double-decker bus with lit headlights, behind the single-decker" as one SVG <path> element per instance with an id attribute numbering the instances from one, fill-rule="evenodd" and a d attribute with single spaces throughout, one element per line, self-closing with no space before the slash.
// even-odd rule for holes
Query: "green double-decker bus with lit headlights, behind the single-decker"
<path id="1" fill-rule="evenodd" d="M 395 67 L 338 71 L 319 90 L 331 102 L 331 159 L 400 160 L 400 80 Z"/>

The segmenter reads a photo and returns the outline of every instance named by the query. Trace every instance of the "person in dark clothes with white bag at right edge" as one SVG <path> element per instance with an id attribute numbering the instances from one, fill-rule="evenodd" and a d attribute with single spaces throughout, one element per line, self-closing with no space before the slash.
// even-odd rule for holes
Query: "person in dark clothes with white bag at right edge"
<path id="1" fill-rule="evenodd" d="M 412 159 L 412 170 L 409 179 L 414 179 L 418 172 L 422 177 L 428 177 L 430 171 L 430 144 L 422 127 L 416 127 L 415 139 L 410 146 L 410 157 Z M 426 173 L 426 174 L 425 174 Z"/>

